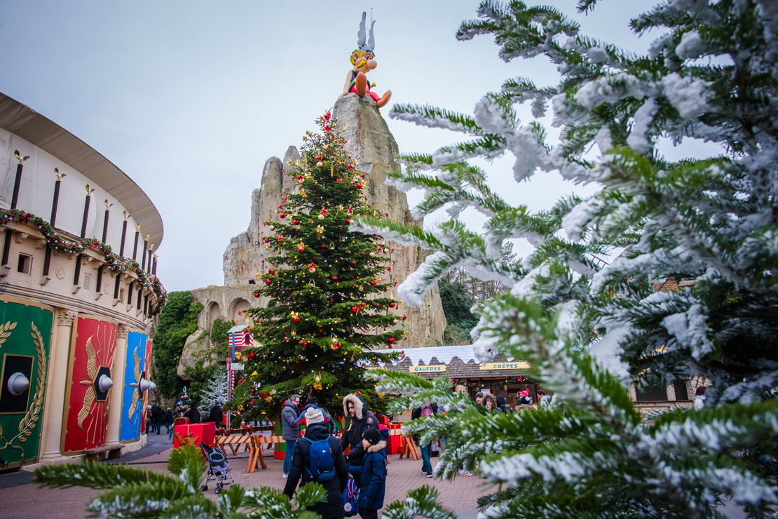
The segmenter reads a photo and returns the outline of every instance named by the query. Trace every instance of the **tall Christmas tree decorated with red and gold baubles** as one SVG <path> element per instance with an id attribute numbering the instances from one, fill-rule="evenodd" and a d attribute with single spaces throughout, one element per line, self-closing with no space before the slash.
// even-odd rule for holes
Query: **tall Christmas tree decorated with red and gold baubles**
<path id="1" fill-rule="evenodd" d="M 289 395 L 314 395 L 333 412 L 344 395 L 357 392 L 370 404 L 374 384 L 364 365 L 389 356 L 404 338 L 398 302 L 384 296 L 391 285 L 391 249 L 376 234 L 349 230 L 356 216 L 382 215 L 366 203 L 364 174 L 353 169 L 337 121 L 327 112 L 321 133 L 303 136 L 302 160 L 284 174 L 296 192 L 279 204 L 280 223 L 265 222 L 265 244 L 277 255 L 258 274 L 266 308 L 251 308 L 259 343 L 243 352 L 246 379 L 239 380 L 230 409 L 241 419 L 276 416 Z M 304 401 L 304 400 L 303 400 Z"/>

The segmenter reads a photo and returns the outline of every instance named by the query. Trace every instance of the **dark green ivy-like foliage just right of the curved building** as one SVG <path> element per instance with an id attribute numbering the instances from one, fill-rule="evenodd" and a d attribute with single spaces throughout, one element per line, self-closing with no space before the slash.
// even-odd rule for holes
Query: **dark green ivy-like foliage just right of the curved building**
<path id="1" fill-rule="evenodd" d="M 202 303 L 195 301 L 191 292 L 171 292 L 168 302 L 159 314 L 159 325 L 153 335 L 156 385 L 166 398 L 178 395 L 184 382 L 177 374 L 178 361 L 184 351 L 184 342 L 197 329 L 197 316 Z"/>

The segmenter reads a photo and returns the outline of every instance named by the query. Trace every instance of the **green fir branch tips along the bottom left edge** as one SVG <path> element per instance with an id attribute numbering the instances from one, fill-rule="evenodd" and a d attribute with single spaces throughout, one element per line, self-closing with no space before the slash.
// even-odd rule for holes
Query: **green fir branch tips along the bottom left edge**
<path id="1" fill-rule="evenodd" d="M 219 494 L 216 502 L 202 492 L 206 465 L 198 447 L 184 445 L 170 453 L 168 471 L 128 468 L 101 463 L 48 465 L 38 468 L 33 482 L 55 488 L 83 486 L 105 490 L 89 503 L 87 510 L 100 517 L 166 517 L 195 519 L 209 517 L 268 517 L 268 519 L 314 519 L 303 507 L 326 499 L 318 483 L 301 488 L 296 500 L 300 511 L 280 490 L 269 487 L 244 489 L 233 485 Z M 240 512 L 238 511 L 240 510 Z"/>

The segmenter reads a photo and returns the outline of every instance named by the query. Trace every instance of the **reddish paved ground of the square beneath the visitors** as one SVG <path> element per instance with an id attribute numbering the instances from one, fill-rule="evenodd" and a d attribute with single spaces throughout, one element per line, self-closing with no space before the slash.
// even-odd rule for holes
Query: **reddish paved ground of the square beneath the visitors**
<path id="1" fill-rule="evenodd" d="M 165 434 L 149 435 L 149 443 L 140 451 L 125 454 L 121 462 L 137 468 L 166 471 L 167 458 L 170 455 L 171 444 Z M 426 478 L 421 473 L 422 462 L 408 459 L 398 459 L 393 454 L 389 457 L 389 473 L 387 475 L 387 493 L 385 504 L 405 497 L 409 490 L 423 485 L 435 486 L 440 492 L 440 501 L 449 510 L 460 513 L 462 519 L 474 519 L 476 500 L 479 496 L 493 491 L 493 487 L 473 476 L 471 478 L 457 477 L 454 482 L 444 482 Z M 244 487 L 271 486 L 282 489 L 286 479 L 282 478 L 282 461 L 265 457 L 268 468 L 258 468 L 253 474 L 246 472 L 248 453 L 238 451 L 236 456 L 228 451 L 227 461 L 230 462 L 235 481 Z M 436 458 L 433 458 L 433 465 Z M 0 503 L 19 503 L 12 509 L 7 504 L 0 505 L 0 517 L 14 519 L 72 519 L 86 517 L 86 503 L 96 491 L 80 487 L 71 489 L 41 489 L 30 483 L 30 472 L 16 471 L 0 473 Z M 212 488 L 206 493 L 215 497 Z M 12 512 L 10 512 L 12 510 Z"/>

